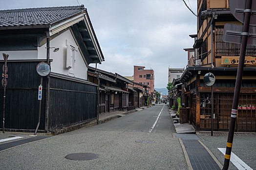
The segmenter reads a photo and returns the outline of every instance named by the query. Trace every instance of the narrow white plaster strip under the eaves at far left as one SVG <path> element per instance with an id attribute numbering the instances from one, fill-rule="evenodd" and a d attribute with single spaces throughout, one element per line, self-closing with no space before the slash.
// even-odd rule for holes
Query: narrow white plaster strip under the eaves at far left
<path id="1" fill-rule="evenodd" d="M 0 60 L 3 60 L 2 53 L 8 54 L 8 60 L 35 60 L 37 59 L 37 50 L 24 50 L 24 51 L 0 51 Z"/>

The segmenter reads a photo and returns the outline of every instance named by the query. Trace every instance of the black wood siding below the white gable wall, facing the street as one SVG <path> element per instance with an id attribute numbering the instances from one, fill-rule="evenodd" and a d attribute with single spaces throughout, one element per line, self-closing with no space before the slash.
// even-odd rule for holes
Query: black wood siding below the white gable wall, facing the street
<path id="1" fill-rule="evenodd" d="M 97 86 L 50 78 L 49 131 L 97 118 Z"/>

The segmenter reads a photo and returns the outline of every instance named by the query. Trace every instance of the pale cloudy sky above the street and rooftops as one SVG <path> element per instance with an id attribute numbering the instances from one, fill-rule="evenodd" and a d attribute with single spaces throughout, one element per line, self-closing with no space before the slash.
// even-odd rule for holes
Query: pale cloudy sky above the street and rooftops
<path id="1" fill-rule="evenodd" d="M 185 0 L 196 12 L 197 0 Z M 196 17 L 182 0 L 0 0 L 0 10 L 85 5 L 106 59 L 98 68 L 133 75 L 152 68 L 155 88 L 168 83 L 168 67 L 184 68 Z M 95 66 L 95 65 L 90 65 Z"/>

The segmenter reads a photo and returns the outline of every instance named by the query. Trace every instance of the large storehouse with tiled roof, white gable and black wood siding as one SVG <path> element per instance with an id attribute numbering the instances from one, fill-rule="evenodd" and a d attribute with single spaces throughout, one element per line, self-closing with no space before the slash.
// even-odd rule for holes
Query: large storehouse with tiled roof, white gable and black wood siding
<path id="1" fill-rule="evenodd" d="M 97 85 L 87 81 L 87 68 L 105 59 L 84 5 L 3 10 L 0 18 L 0 53 L 9 55 L 5 130 L 35 131 L 40 62 L 50 64 L 51 72 L 43 77 L 38 132 L 95 122 Z M 3 98 L 0 103 L 2 112 Z M 0 128 L 2 119 L 0 114 Z"/>

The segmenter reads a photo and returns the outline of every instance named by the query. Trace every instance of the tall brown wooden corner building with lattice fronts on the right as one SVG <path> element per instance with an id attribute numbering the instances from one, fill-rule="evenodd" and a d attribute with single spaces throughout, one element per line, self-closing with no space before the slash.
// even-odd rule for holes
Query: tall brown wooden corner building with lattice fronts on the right
<path id="1" fill-rule="evenodd" d="M 197 131 L 210 130 L 213 102 L 213 130 L 228 131 L 240 45 L 224 42 L 222 35 L 225 23 L 242 23 L 232 16 L 228 0 L 198 0 L 197 11 L 197 34 L 190 35 L 195 39 L 193 49 L 196 56 L 190 58 L 194 61 L 189 61 L 180 78 L 185 87 L 185 107 L 189 107 L 189 120 Z M 256 46 L 248 45 L 235 125 L 237 132 L 256 132 L 255 58 Z M 203 81 L 208 72 L 216 78 L 213 99 L 211 87 Z"/>

